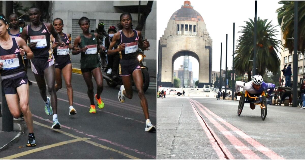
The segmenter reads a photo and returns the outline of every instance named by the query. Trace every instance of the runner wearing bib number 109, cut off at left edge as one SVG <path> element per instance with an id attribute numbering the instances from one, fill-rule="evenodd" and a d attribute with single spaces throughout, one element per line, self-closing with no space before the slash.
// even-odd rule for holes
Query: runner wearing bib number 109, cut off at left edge
<path id="1" fill-rule="evenodd" d="M 29 131 L 26 146 L 34 147 L 36 142 L 33 132 L 32 113 L 29 108 L 29 85 L 23 63 L 23 56 L 31 59 L 33 53 L 22 38 L 9 35 L 8 29 L 9 25 L 5 17 L 0 16 L 1 85 L 7 99 L 9 111 L 13 117 L 19 118 L 21 112 L 24 115 L 24 120 L 27 123 Z"/>

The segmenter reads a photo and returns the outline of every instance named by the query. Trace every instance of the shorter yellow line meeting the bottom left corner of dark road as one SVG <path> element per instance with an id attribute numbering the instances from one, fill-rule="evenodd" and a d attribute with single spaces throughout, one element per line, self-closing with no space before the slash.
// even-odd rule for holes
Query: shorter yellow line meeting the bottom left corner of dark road
<path id="1" fill-rule="evenodd" d="M 10 156 L 7 156 L 7 157 L 3 157 L 3 158 L 0 158 L 0 159 L 14 159 L 14 158 L 22 157 L 22 156 L 25 156 L 25 155 L 28 155 L 28 154 L 31 154 L 31 153 L 35 153 L 35 152 L 38 152 L 38 151 L 46 150 L 46 149 L 49 149 L 49 148 L 58 147 L 58 146 L 61 146 L 61 145 L 64 145 L 64 144 L 69 144 L 69 143 L 78 142 L 78 141 L 82 141 L 82 140 L 88 140 L 88 139 L 90 139 L 90 138 L 77 138 L 77 139 L 73 139 L 73 140 L 67 140 L 67 141 L 56 143 L 56 144 L 51 144 L 51 145 L 31 149 L 29 151 L 24 151 L 24 152 L 17 153 L 15 155 L 10 155 Z"/>

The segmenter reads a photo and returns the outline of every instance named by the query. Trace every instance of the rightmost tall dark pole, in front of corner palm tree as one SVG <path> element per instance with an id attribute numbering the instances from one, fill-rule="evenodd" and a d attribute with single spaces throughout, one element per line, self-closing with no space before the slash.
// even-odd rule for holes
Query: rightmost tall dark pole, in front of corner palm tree
<path id="1" fill-rule="evenodd" d="M 297 106 L 297 98 L 298 98 L 298 5 L 299 2 L 298 1 L 294 1 L 294 47 L 293 47 L 293 86 L 292 86 L 292 105 L 294 107 Z"/>

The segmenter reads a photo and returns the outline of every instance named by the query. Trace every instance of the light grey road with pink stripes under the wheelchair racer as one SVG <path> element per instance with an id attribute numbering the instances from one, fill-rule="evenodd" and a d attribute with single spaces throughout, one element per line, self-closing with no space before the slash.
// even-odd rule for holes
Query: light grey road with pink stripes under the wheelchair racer
<path id="1" fill-rule="evenodd" d="M 216 98 L 158 98 L 158 159 L 304 159 L 305 110 Z"/>

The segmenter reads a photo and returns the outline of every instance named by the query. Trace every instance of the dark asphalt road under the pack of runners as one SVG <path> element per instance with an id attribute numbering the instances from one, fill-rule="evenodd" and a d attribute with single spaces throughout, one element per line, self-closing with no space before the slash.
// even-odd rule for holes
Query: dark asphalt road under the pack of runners
<path id="1" fill-rule="evenodd" d="M 145 132 L 145 118 L 137 92 L 125 103 L 117 99 L 119 86 L 108 87 L 104 81 L 103 109 L 89 113 L 90 101 L 87 86 L 82 75 L 72 74 L 74 108 L 77 114 L 68 116 L 69 103 L 66 88 L 57 92 L 58 120 L 60 130 L 52 130 L 52 116 L 44 112 L 44 102 L 39 94 L 32 72 L 28 73 L 33 82 L 30 86 L 30 110 L 34 120 L 34 134 L 37 146 L 25 147 L 28 131 L 25 122 L 20 124 L 22 134 L 8 146 L 0 150 L 0 158 L 5 159 L 156 159 L 156 133 Z M 149 102 L 149 114 L 156 125 L 156 79 L 145 96 Z M 94 88 L 96 93 L 96 85 Z M 96 101 L 95 101 L 96 104 Z M 0 137 L 1 139 L 1 137 Z"/>

